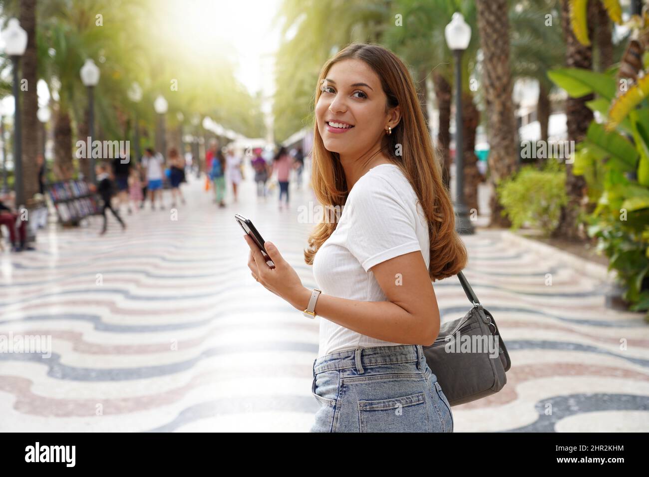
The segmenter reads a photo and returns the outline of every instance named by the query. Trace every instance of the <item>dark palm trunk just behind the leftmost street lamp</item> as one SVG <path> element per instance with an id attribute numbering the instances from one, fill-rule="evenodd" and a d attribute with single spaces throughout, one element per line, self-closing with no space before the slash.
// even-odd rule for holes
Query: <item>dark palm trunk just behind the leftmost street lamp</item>
<path id="1" fill-rule="evenodd" d="M 37 55 L 36 55 L 36 0 L 21 0 L 20 25 L 27 31 L 27 49 L 21 58 L 21 78 L 27 81 L 28 88 L 22 91 L 21 128 L 22 128 L 22 171 L 23 192 L 25 199 L 31 199 L 38 193 L 38 164 L 36 157 L 40 154 L 38 121 L 38 93 L 36 92 Z"/>

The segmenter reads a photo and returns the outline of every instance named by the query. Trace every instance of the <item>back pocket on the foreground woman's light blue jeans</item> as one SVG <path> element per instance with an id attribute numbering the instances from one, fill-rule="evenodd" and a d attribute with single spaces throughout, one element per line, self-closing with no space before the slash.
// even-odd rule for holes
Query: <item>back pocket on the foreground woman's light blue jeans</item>
<path id="1" fill-rule="evenodd" d="M 427 432 L 426 395 L 417 393 L 391 399 L 359 400 L 358 418 L 360 432 Z"/>

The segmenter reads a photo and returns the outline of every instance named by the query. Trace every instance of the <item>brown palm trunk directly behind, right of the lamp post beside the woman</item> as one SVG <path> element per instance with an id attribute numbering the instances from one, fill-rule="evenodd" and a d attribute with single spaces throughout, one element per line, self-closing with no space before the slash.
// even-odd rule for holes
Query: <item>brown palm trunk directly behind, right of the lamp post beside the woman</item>
<path id="1" fill-rule="evenodd" d="M 473 95 L 462 94 L 462 140 L 464 155 L 464 199 L 469 215 L 472 209 L 478 212 L 478 184 L 482 176 L 478 170 L 478 156 L 476 156 L 476 129 L 480 124 L 480 111 L 473 103 Z"/>

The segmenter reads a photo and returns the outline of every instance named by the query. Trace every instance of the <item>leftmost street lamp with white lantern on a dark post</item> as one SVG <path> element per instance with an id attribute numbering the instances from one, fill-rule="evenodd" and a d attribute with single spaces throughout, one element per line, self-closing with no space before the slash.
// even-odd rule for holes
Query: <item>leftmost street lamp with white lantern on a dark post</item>
<path id="1" fill-rule="evenodd" d="M 16 191 L 16 209 L 19 210 L 23 206 L 23 202 L 25 202 L 25 197 L 23 197 L 23 153 L 20 136 L 18 61 L 24 55 L 25 49 L 27 48 L 27 32 L 20 27 L 18 19 L 11 18 L 7 22 L 5 31 L 2 32 L 2 38 L 5 40 L 5 53 L 11 56 L 14 73 L 14 84 L 12 85 L 14 104 L 16 105 L 14 108 L 14 190 Z"/>

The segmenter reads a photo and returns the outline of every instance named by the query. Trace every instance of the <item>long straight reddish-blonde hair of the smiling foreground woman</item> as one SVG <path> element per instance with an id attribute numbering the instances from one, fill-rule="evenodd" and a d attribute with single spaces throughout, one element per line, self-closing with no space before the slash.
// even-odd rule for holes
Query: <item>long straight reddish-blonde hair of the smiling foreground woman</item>
<path id="1" fill-rule="evenodd" d="M 381 149 L 410 181 L 428 221 L 432 281 L 456 275 L 467 263 L 467 250 L 455 230 L 455 215 L 448 191 L 442 182 L 441 163 L 435 158 L 430 132 L 421 112 L 417 93 L 408 68 L 397 55 L 381 45 L 351 43 L 324 64 L 315 90 L 315 104 L 321 95 L 320 84 L 329 69 L 342 60 L 355 58 L 371 67 L 386 93 L 386 114 L 400 105 L 401 121 L 384 134 Z M 314 106 L 315 107 L 315 106 Z M 397 155 L 397 145 L 402 155 Z M 324 208 L 342 208 L 347 201 L 347 179 L 339 155 L 327 151 L 318 130 L 313 130 L 313 192 Z M 338 207 L 336 207 L 338 206 Z M 323 217 L 308 238 L 304 261 L 313 265 L 313 256 L 336 230 L 337 220 Z"/>

